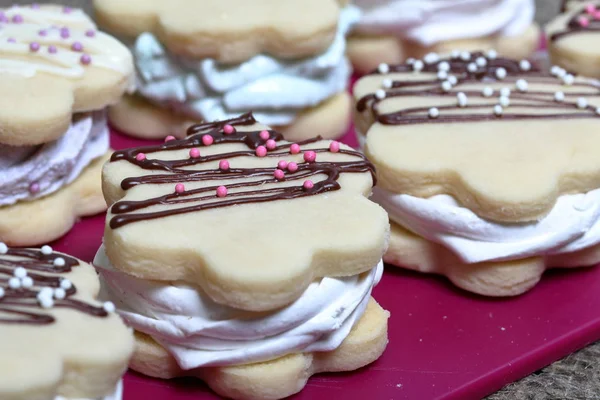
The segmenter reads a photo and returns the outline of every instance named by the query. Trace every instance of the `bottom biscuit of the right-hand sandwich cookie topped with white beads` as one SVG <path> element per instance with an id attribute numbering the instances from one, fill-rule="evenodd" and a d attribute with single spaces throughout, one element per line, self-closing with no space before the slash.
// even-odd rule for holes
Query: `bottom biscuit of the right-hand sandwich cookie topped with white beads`
<path id="1" fill-rule="evenodd" d="M 444 275 L 469 292 L 484 296 L 515 296 L 534 287 L 547 269 L 599 263 L 600 245 L 557 256 L 465 264 L 445 247 L 392 222 L 390 246 L 383 260 L 419 272 Z"/>

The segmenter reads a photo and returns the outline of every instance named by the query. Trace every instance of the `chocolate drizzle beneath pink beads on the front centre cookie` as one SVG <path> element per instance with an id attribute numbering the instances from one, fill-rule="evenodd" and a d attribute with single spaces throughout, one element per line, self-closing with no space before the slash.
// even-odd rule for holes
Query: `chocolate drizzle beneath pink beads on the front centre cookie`
<path id="1" fill-rule="evenodd" d="M 156 218 L 162 218 L 172 215 L 200 212 L 214 208 L 229 207 L 240 204 L 264 203 L 278 200 L 289 200 L 306 196 L 313 196 L 329 191 L 340 189 L 338 178 L 342 173 L 365 173 L 370 172 L 375 180 L 375 169 L 373 165 L 366 160 L 364 155 L 352 151 L 339 149 L 339 154 L 351 155 L 356 157 L 352 161 L 319 161 L 298 163 L 298 169 L 294 172 L 286 171 L 285 179 L 279 181 L 274 177 L 278 169 L 277 164 L 280 160 L 290 157 L 290 148 L 293 143 L 283 142 L 283 136 L 275 131 L 269 130 L 268 138 L 261 138 L 261 131 L 238 131 L 225 134 L 224 127 L 232 126 L 252 126 L 257 121 L 251 113 L 244 114 L 238 118 L 227 121 L 199 124 L 188 130 L 188 137 L 182 140 L 168 141 L 162 145 L 133 148 L 115 152 L 111 162 L 127 161 L 138 167 L 149 171 L 164 171 L 165 173 L 155 173 L 150 175 L 136 176 L 126 178 L 121 182 L 123 190 L 131 189 L 137 185 L 156 185 L 156 184 L 178 184 L 186 182 L 208 182 L 206 187 L 191 189 L 177 193 L 173 191 L 169 194 L 150 198 L 141 201 L 119 201 L 115 203 L 111 212 L 114 216 L 110 220 L 112 229 L 120 228 L 124 225 Z M 177 151 L 192 148 L 202 148 L 203 138 L 210 136 L 212 144 L 243 144 L 247 150 L 218 153 L 214 155 L 201 156 L 197 158 L 188 157 L 177 160 L 160 160 L 144 158 L 139 160 L 137 155 L 151 155 L 157 152 Z M 270 149 L 264 158 L 273 159 L 272 167 L 265 168 L 243 168 L 231 167 L 227 170 L 221 169 L 203 169 L 207 162 L 219 160 L 232 160 L 238 157 L 258 157 L 256 149 L 259 146 L 265 146 L 267 140 L 274 140 L 276 146 Z M 317 143 L 320 137 L 298 142 L 301 146 Z M 310 148 L 315 153 L 329 152 L 329 148 Z M 234 162 L 232 162 L 234 164 Z M 324 180 L 315 181 L 312 188 L 305 188 L 303 182 L 311 177 L 315 179 L 317 175 L 325 175 Z M 298 184 L 294 184 L 294 183 Z M 270 186 L 264 188 L 265 184 L 281 183 L 279 186 Z M 285 184 L 283 184 L 285 183 Z M 290 185 L 290 183 L 292 183 Z M 219 198 L 215 195 L 217 188 L 221 185 L 227 187 L 231 192 L 226 197 Z M 149 207 L 156 205 L 168 205 L 169 207 L 160 211 L 146 211 Z"/>

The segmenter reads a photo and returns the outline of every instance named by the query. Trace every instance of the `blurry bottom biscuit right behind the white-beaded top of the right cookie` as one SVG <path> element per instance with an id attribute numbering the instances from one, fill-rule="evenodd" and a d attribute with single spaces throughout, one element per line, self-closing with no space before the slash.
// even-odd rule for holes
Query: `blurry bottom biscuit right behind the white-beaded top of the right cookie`
<path id="1" fill-rule="evenodd" d="M 356 72 L 365 74 L 380 63 L 399 64 L 409 57 L 422 58 L 430 52 L 449 53 L 452 50 L 490 50 L 510 58 L 528 58 L 539 44 L 540 28 L 533 24 L 520 36 L 494 36 L 478 39 L 452 40 L 431 47 L 399 40 L 393 36 L 351 36 L 348 57 Z"/>

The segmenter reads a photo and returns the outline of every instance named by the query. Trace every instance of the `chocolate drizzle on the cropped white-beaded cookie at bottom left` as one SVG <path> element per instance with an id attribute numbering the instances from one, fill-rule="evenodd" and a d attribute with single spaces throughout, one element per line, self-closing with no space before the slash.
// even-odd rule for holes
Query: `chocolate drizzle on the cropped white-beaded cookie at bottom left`
<path id="1" fill-rule="evenodd" d="M 63 266 L 55 266 L 54 260 L 62 258 Z M 4 294 L 0 296 L 0 324 L 32 324 L 45 325 L 55 321 L 54 316 L 44 312 L 38 301 L 38 294 L 43 288 L 58 289 L 63 278 L 60 274 L 71 272 L 79 266 L 75 258 L 62 254 L 43 254 L 39 249 L 8 249 L 0 254 L 0 287 Z M 29 288 L 12 289 L 8 282 L 14 277 L 17 268 L 27 271 L 33 280 Z M 65 289 L 63 299 L 54 299 L 53 307 L 70 308 L 89 315 L 106 317 L 108 313 L 102 307 L 96 307 L 81 300 L 73 299 L 77 293 L 74 285 Z"/>

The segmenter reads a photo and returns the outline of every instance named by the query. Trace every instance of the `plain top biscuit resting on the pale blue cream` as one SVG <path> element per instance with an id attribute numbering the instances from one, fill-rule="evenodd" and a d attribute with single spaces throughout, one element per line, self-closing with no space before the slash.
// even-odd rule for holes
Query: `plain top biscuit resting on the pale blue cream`
<path id="1" fill-rule="evenodd" d="M 222 63 L 321 53 L 334 40 L 340 11 L 335 0 L 94 0 L 94 7 L 111 32 L 151 32 L 176 55 Z"/>

